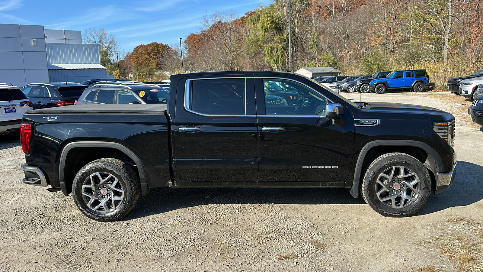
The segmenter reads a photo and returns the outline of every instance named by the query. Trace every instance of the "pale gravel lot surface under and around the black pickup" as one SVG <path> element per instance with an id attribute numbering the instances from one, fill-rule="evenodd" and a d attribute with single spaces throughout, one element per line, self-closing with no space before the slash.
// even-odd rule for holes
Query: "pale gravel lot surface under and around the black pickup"
<path id="1" fill-rule="evenodd" d="M 156 188 L 123 221 L 101 223 L 71 196 L 23 184 L 19 141 L 0 136 L 0 271 L 462 271 L 462 260 L 442 254 L 434 237 L 459 220 L 451 218 L 483 220 L 483 132 L 468 119 L 470 102 L 447 92 L 362 99 L 457 117 L 455 183 L 415 216 L 383 217 L 347 189 Z"/>

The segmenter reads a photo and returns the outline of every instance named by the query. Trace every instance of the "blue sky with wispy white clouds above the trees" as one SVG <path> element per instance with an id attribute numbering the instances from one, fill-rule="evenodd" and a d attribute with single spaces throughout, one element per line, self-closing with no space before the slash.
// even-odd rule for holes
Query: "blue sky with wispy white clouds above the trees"
<path id="1" fill-rule="evenodd" d="M 235 11 L 239 16 L 272 0 L 0 0 L 0 23 L 44 29 L 104 28 L 125 53 L 152 42 L 179 44 L 199 32 L 203 15 Z"/>

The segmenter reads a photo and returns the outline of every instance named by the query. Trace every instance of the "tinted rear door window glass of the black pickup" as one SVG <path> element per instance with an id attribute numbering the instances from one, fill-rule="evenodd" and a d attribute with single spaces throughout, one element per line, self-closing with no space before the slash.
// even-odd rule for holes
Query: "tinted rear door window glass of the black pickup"
<path id="1" fill-rule="evenodd" d="M 193 80 L 191 110 L 211 115 L 245 115 L 245 78 Z"/>

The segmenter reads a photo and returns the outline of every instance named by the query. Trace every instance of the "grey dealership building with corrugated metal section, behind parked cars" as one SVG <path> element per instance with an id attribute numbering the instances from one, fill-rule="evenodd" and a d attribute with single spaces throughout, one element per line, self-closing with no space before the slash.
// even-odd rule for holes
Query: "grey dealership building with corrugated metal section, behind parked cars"
<path id="1" fill-rule="evenodd" d="M 22 87 L 106 77 L 100 46 L 82 44 L 81 31 L 0 24 L 0 82 Z"/>

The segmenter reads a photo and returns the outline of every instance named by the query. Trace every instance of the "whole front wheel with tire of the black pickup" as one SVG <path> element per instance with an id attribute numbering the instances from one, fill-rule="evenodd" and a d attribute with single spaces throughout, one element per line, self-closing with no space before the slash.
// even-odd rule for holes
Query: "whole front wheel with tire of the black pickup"
<path id="1" fill-rule="evenodd" d="M 423 208 L 431 192 L 426 167 L 406 153 L 386 153 L 373 160 L 362 181 L 362 197 L 387 217 L 411 216 Z"/>

